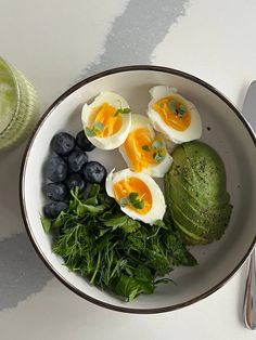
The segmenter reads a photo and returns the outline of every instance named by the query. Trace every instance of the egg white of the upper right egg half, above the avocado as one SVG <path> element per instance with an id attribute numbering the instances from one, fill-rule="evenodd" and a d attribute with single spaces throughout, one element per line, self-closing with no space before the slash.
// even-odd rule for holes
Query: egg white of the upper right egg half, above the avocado
<path id="1" fill-rule="evenodd" d="M 156 86 L 150 90 L 152 100 L 149 103 L 148 116 L 151 123 L 153 125 L 156 131 L 162 132 L 166 139 L 169 139 L 176 144 L 197 140 L 202 135 L 202 121 L 197 109 L 194 104 L 185 100 L 182 95 L 178 94 L 177 89 L 166 87 L 166 86 Z M 162 117 L 154 110 L 152 107 L 157 101 L 168 95 L 174 95 L 177 100 L 182 101 L 191 113 L 191 123 L 184 131 L 178 131 L 165 123 Z"/>

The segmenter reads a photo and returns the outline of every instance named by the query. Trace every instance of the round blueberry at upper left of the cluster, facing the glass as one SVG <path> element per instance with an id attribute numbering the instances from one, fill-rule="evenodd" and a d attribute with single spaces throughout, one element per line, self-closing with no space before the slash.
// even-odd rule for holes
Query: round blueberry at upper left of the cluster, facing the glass
<path id="1" fill-rule="evenodd" d="M 76 141 L 67 132 L 60 132 L 55 134 L 51 141 L 52 149 L 60 156 L 69 154 L 75 147 Z"/>

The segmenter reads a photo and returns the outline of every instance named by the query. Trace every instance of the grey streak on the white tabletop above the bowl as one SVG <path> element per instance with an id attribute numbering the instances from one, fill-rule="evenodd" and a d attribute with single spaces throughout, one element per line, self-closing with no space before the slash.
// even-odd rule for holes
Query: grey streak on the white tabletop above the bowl
<path id="1" fill-rule="evenodd" d="M 150 56 L 169 27 L 184 15 L 189 0 L 131 0 L 125 13 L 115 19 L 107 36 L 104 53 L 85 68 L 77 80 L 107 68 L 150 64 Z"/>

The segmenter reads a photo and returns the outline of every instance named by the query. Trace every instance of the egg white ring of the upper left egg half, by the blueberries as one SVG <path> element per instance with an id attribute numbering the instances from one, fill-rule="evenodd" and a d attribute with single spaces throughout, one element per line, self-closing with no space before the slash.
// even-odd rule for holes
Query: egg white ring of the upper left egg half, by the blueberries
<path id="1" fill-rule="evenodd" d="M 103 105 L 104 103 L 108 103 L 110 105 L 116 107 L 116 109 L 123 107 L 129 107 L 127 101 L 117 93 L 105 91 L 101 92 L 91 104 L 85 104 L 81 112 L 81 122 L 86 133 L 86 128 L 89 127 L 90 116 L 93 114 L 94 109 L 99 106 Z M 121 115 L 123 122 L 121 128 L 115 134 L 112 134 L 106 138 L 99 138 L 99 136 L 88 136 L 88 140 L 101 149 L 114 149 L 120 146 L 130 130 L 131 125 L 131 114 Z"/>

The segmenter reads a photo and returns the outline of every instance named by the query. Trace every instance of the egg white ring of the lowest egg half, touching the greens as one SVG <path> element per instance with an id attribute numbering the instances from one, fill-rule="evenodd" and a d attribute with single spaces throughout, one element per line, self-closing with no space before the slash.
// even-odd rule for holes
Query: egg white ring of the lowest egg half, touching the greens
<path id="1" fill-rule="evenodd" d="M 108 196 L 115 198 L 113 191 L 114 184 L 127 178 L 137 178 L 143 181 L 149 187 L 152 196 L 152 208 L 145 214 L 139 214 L 126 207 L 120 207 L 121 211 L 124 211 L 133 220 L 139 220 L 149 224 L 154 224 L 156 220 L 163 220 L 166 210 L 166 204 L 164 195 L 156 182 L 146 173 L 132 172 L 130 169 L 120 170 L 118 172 L 114 172 L 114 170 L 115 169 L 113 169 L 106 176 L 105 188 Z"/>

